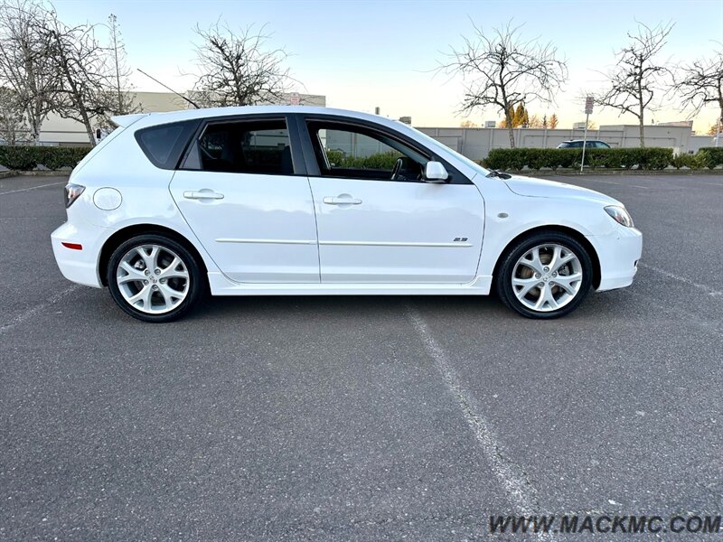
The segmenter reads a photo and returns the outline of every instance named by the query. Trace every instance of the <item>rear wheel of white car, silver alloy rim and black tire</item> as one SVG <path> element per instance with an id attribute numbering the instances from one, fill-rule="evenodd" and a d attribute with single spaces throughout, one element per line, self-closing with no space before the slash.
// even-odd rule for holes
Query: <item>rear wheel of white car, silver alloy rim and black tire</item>
<path id="1" fill-rule="evenodd" d="M 201 269 L 180 243 L 162 235 L 130 238 L 113 251 L 108 289 L 126 313 L 145 322 L 170 322 L 198 301 Z"/>

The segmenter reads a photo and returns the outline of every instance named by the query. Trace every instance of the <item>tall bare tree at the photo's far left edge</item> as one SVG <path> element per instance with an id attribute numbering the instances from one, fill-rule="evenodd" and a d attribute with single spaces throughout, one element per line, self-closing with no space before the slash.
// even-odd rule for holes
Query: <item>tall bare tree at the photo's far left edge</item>
<path id="1" fill-rule="evenodd" d="M 49 36 L 42 33 L 50 18 L 34 0 L 0 3 L 0 84 L 14 91 L 14 103 L 23 112 L 31 142 L 40 136 L 59 84 L 48 55 Z"/>

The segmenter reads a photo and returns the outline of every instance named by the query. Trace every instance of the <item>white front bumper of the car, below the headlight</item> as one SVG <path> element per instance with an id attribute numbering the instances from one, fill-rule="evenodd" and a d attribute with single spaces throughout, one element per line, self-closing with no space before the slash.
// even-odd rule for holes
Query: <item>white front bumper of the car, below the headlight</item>
<path id="1" fill-rule="evenodd" d="M 633 284 L 638 261 L 643 256 L 643 234 L 638 229 L 615 226 L 613 233 L 590 236 L 600 260 L 598 292 L 624 288 Z"/>

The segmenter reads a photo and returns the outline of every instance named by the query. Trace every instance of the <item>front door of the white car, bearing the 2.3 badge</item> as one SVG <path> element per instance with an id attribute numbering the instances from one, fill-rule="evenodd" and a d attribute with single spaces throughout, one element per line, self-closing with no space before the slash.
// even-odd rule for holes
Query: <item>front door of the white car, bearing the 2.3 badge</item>
<path id="1" fill-rule="evenodd" d="M 466 179 L 422 180 L 429 156 L 365 126 L 308 120 L 322 283 L 465 284 L 484 201 Z"/>

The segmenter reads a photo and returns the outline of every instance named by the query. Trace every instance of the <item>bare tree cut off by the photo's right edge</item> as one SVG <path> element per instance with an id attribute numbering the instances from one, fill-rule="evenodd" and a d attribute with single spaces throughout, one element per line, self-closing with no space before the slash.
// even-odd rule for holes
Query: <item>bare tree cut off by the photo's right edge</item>
<path id="1" fill-rule="evenodd" d="M 674 74 L 673 89 L 681 97 L 682 107 L 690 108 L 693 115 L 703 107 L 717 106 L 718 133 L 723 123 L 723 45 L 710 58 L 683 64 Z"/>

